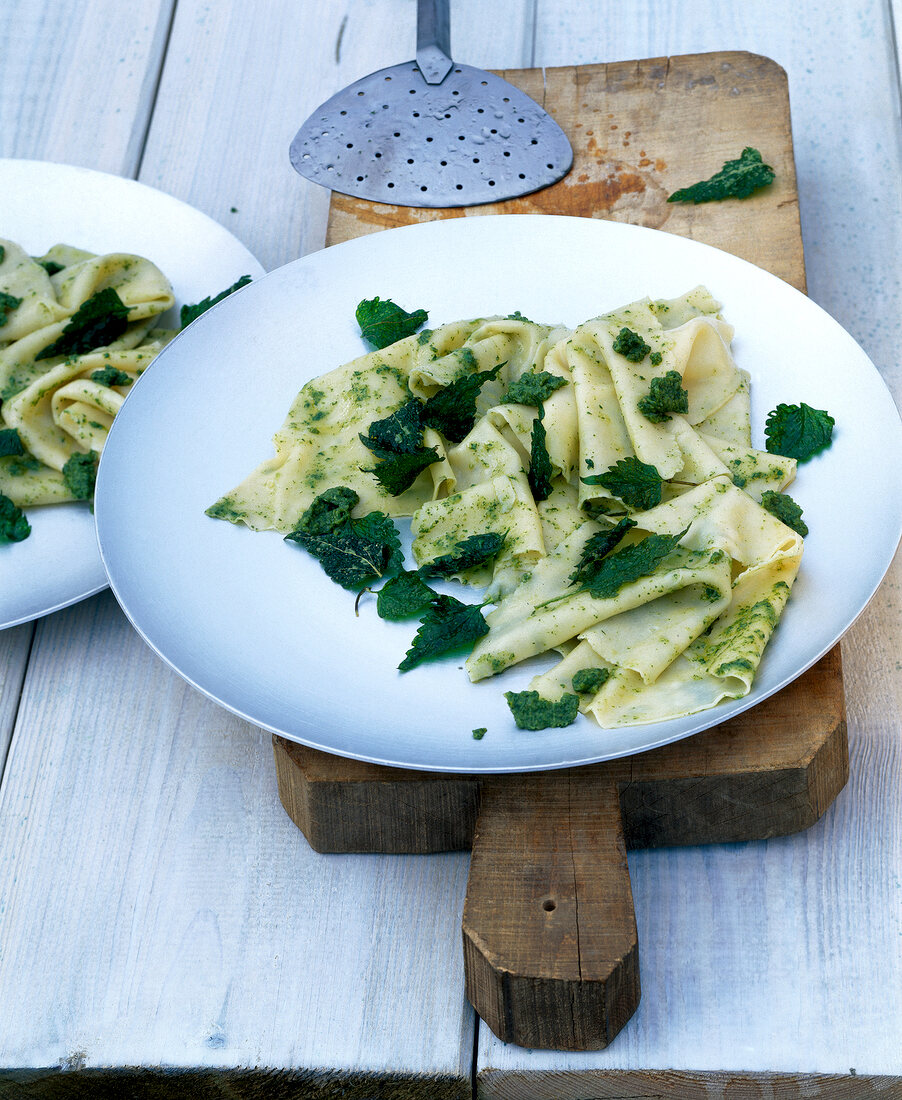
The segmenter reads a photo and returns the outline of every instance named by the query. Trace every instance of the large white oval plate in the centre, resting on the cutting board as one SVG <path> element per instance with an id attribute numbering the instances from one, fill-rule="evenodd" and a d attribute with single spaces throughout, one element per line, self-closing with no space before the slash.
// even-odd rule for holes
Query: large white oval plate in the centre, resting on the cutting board
<path id="1" fill-rule="evenodd" d="M 360 355 L 362 298 L 429 311 L 429 324 L 510 314 L 576 324 L 646 294 L 704 283 L 736 326 L 754 424 L 806 402 L 836 418 L 832 449 L 800 469 L 811 528 L 802 572 L 751 694 L 689 718 L 604 730 L 518 730 L 503 693 L 535 674 L 471 684 L 462 661 L 397 672 L 416 623 L 328 580 L 275 532 L 204 509 L 273 453 L 301 384 Z M 166 432 L 161 431 L 166 425 Z M 315 748 L 405 768 L 562 768 L 673 741 L 754 706 L 825 653 L 873 594 L 902 530 L 902 430 L 875 366 L 822 309 L 725 252 L 582 218 L 433 221 L 298 260 L 190 326 L 117 417 L 97 486 L 100 550 L 138 630 L 191 684 L 257 726 Z M 459 586 L 460 587 L 460 586 Z M 473 598 L 472 596 L 470 598 Z M 550 661 L 548 663 L 551 663 Z M 482 740 L 472 730 L 486 727 Z"/>

